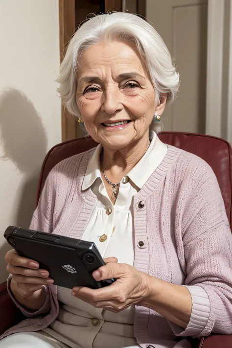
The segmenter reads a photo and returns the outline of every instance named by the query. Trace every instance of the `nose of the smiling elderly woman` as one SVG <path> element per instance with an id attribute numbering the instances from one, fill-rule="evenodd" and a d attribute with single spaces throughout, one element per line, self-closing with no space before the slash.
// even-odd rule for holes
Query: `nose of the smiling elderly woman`
<path id="1" fill-rule="evenodd" d="M 120 102 L 120 95 L 115 89 L 108 89 L 102 95 L 102 111 L 105 111 L 107 114 L 112 115 L 116 111 L 123 109 L 123 105 Z"/>

